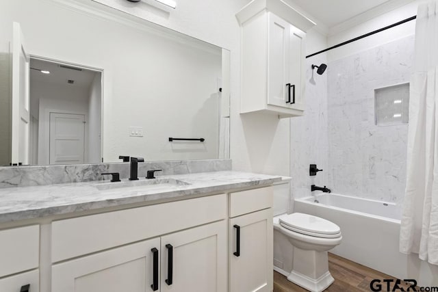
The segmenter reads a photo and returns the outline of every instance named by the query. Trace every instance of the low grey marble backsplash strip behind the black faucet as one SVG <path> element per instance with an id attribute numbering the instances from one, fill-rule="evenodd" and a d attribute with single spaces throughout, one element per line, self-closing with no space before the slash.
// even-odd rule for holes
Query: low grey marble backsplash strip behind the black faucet
<path id="1" fill-rule="evenodd" d="M 193 161 L 151 161 L 138 163 L 138 175 L 147 170 L 162 170 L 157 174 L 188 174 L 231 170 L 231 159 Z M 119 172 L 120 178 L 129 177 L 129 163 L 99 163 L 81 165 L 40 165 L 0 168 L 0 189 L 58 183 L 103 181 L 104 172 Z"/>

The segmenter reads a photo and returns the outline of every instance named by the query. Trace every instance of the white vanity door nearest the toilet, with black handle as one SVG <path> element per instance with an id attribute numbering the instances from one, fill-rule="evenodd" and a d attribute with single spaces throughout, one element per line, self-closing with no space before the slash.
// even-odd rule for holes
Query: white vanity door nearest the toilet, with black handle
<path id="1" fill-rule="evenodd" d="M 272 209 L 229 220 L 230 292 L 272 291 L 272 233 Z"/>

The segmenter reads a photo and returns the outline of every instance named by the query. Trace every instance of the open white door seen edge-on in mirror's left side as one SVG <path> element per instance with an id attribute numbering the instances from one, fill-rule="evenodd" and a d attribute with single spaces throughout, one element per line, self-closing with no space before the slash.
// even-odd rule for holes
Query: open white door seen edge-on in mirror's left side
<path id="1" fill-rule="evenodd" d="M 12 163 L 29 164 L 29 55 L 19 23 L 12 44 Z"/>

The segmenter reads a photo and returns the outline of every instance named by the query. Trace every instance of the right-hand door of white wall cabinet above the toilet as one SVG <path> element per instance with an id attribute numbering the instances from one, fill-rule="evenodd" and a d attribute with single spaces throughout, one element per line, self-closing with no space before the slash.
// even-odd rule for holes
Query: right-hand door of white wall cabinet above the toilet
<path id="1" fill-rule="evenodd" d="M 287 83 L 294 85 L 295 103 L 289 103 L 291 109 L 304 111 L 305 96 L 305 33 L 293 25 L 289 25 L 289 79 Z M 315 73 L 316 74 L 316 70 Z M 293 94 L 293 92 L 292 92 Z M 293 101 L 292 101 L 293 102 Z"/>

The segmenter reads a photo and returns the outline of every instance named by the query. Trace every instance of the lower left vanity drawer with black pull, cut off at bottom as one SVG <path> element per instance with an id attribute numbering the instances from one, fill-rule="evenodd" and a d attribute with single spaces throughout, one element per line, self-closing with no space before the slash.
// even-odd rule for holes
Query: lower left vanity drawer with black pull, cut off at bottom
<path id="1" fill-rule="evenodd" d="M 10 276 L 0 279 L 0 291 L 1 292 L 18 292 L 25 291 L 25 287 L 29 285 L 29 292 L 40 291 L 39 283 L 40 274 L 38 269 L 34 271 L 28 271 L 26 273 L 17 274 L 15 276 Z"/>

